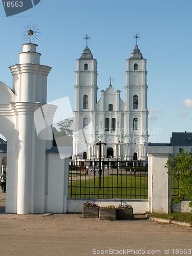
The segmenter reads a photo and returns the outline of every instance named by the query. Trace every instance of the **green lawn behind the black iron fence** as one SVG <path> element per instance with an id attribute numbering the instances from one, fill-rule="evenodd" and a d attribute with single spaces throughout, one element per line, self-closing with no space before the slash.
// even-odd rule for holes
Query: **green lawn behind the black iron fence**
<path id="1" fill-rule="evenodd" d="M 147 176 L 110 175 L 99 178 L 69 182 L 69 197 L 72 198 L 138 198 L 147 199 Z"/>

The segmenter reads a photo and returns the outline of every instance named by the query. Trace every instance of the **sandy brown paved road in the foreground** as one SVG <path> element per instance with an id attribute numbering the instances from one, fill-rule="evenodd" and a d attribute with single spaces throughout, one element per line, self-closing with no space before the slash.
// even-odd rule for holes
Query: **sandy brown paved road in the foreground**
<path id="1" fill-rule="evenodd" d="M 5 207 L 1 193 L 0 207 Z M 1 254 L 14 256 L 182 255 L 176 249 L 188 250 L 192 244 L 192 228 L 159 224 L 143 216 L 133 221 L 100 221 L 82 219 L 79 214 L 2 213 L 0 229 Z"/>

